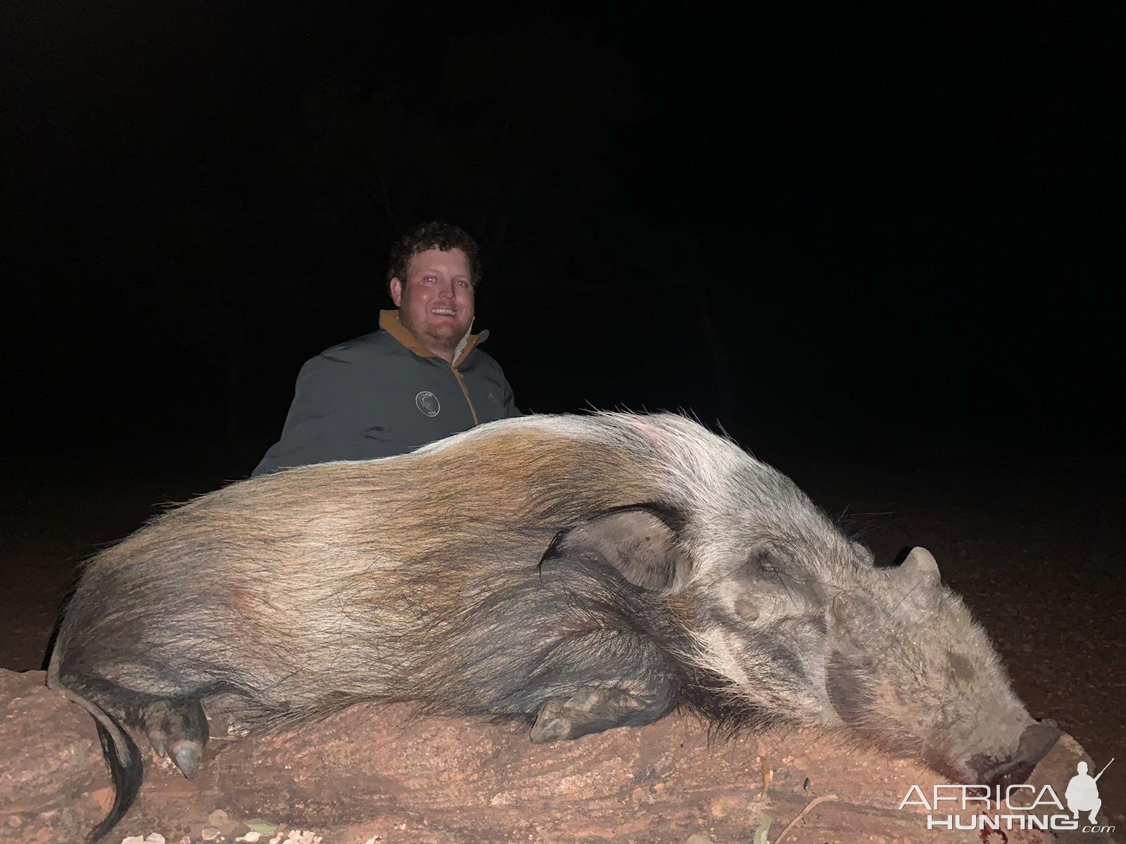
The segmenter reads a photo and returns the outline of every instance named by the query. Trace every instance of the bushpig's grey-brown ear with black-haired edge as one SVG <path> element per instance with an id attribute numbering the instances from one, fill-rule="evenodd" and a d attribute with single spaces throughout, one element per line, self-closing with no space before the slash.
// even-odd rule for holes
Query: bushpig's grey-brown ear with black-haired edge
<path id="1" fill-rule="evenodd" d="M 685 520 L 660 504 L 632 504 L 599 513 L 555 535 L 539 565 L 556 557 L 598 555 L 635 586 L 672 591 L 690 564 L 678 544 Z"/>

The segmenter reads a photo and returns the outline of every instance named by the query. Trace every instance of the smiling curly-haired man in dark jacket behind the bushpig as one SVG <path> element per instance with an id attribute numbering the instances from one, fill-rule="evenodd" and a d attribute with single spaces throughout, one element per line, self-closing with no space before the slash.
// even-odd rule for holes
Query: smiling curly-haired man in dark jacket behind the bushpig
<path id="1" fill-rule="evenodd" d="M 519 415 L 500 366 L 477 348 L 488 332 L 470 333 L 480 277 L 477 244 L 457 226 L 401 237 L 387 270 L 397 311 L 302 367 L 282 439 L 252 474 L 401 455 Z"/>

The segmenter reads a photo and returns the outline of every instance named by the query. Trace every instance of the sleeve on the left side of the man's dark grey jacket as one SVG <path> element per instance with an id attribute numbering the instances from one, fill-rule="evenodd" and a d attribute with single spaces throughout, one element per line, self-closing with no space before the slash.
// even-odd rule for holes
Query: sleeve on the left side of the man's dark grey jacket
<path id="1" fill-rule="evenodd" d="M 349 392 L 355 388 L 351 363 L 320 354 L 297 376 L 293 404 L 279 439 L 251 476 L 291 466 L 348 459 L 355 440 L 350 430 Z"/>

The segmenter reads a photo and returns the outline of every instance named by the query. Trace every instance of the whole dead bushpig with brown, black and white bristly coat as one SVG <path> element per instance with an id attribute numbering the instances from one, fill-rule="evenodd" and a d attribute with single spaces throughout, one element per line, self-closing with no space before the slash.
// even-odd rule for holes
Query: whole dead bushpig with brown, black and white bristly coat
<path id="1" fill-rule="evenodd" d="M 204 709 L 257 729 L 359 701 L 516 719 L 533 742 L 652 722 L 814 725 L 968 783 L 1058 733 L 914 549 L 874 566 L 787 477 L 674 414 L 533 415 L 411 455 L 231 484 L 87 565 L 47 683 L 191 776 Z"/>

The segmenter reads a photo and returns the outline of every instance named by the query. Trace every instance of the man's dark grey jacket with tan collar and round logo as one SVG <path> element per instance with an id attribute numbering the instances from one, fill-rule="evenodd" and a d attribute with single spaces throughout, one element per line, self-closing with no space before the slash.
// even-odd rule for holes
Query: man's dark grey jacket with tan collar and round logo
<path id="1" fill-rule="evenodd" d="M 329 460 L 366 460 L 413 451 L 482 422 L 518 416 L 500 366 L 471 334 L 450 365 L 399 322 L 334 345 L 301 368 L 289 414 L 253 475 Z"/>

